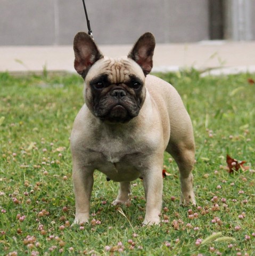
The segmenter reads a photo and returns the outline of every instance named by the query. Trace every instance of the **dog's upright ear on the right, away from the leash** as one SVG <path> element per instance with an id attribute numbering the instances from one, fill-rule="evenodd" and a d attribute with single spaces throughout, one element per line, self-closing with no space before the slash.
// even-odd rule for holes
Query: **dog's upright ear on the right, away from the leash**
<path id="1" fill-rule="evenodd" d="M 147 32 L 143 34 L 129 52 L 128 58 L 133 59 L 141 68 L 146 76 L 150 73 L 153 62 L 152 57 L 155 48 L 155 37 Z"/>

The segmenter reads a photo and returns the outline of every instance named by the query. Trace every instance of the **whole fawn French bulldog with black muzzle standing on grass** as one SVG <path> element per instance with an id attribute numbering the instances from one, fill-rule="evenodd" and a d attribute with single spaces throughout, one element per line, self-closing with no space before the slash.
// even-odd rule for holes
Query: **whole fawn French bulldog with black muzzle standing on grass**
<path id="1" fill-rule="evenodd" d="M 88 222 L 93 173 L 120 182 L 113 205 L 129 203 L 130 181 L 143 178 L 144 225 L 160 223 L 164 151 L 177 162 L 181 204 L 195 205 L 195 143 L 190 116 L 175 88 L 149 75 L 155 38 L 145 33 L 127 57 L 108 58 L 84 32 L 74 39 L 75 69 L 85 104 L 71 132 L 74 223 Z"/>

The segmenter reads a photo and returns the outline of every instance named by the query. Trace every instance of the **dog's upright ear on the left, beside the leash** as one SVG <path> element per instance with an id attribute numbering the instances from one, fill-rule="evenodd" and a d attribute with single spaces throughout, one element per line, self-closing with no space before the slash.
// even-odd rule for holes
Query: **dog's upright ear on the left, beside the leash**
<path id="1" fill-rule="evenodd" d="M 103 54 L 98 50 L 95 42 L 85 32 L 79 32 L 73 39 L 73 51 L 75 51 L 75 69 L 78 74 L 85 78 L 89 68 L 99 59 L 103 58 Z"/>

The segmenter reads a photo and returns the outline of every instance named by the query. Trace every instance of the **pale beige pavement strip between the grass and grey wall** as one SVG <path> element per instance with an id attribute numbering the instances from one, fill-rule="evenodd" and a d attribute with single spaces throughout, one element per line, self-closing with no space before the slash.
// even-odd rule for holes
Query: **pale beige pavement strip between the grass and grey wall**
<path id="1" fill-rule="evenodd" d="M 100 45 L 104 55 L 127 55 L 132 45 Z M 72 46 L 0 46 L 0 71 L 40 73 L 75 72 Z M 210 70 L 211 74 L 255 72 L 255 42 L 203 41 L 187 44 L 157 44 L 153 71 L 183 68 Z"/>

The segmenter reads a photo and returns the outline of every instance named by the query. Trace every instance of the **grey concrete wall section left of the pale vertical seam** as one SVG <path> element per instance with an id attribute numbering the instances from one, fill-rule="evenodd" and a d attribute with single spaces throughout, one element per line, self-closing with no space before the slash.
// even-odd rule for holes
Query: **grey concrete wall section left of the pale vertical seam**
<path id="1" fill-rule="evenodd" d="M 52 44 L 54 3 L 51 0 L 0 0 L 0 44 Z"/>

